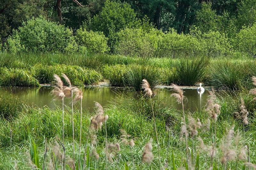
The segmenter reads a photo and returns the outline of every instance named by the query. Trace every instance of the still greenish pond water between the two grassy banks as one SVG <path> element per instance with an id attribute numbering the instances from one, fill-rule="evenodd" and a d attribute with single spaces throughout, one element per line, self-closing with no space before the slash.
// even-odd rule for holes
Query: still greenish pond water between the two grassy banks
<path id="1" fill-rule="evenodd" d="M 50 92 L 52 89 L 53 87 L 0 87 L 0 96 L 12 95 L 19 97 L 20 100 L 25 101 L 28 105 L 55 108 L 56 105 L 61 106 L 61 100 L 51 96 Z M 194 112 L 205 106 L 209 95 L 207 90 L 201 95 L 197 93 L 196 89 L 183 90 L 187 98 L 187 101 L 184 103 L 185 110 Z M 89 111 L 94 110 L 94 101 L 99 102 L 102 106 L 108 106 L 115 100 L 136 96 L 136 92 L 132 89 L 113 87 L 85 87 L 83 93 L 83 108 Z M 157 88 L 154 90 L 154 93 L 160 99 L 163 99 L 166 106 L 181 109 L 181 105 L 175 101 L 174 97 L 171 97 L 171 94 L 174 93 L 173 89 Z M 70 101 L 67 101 L 65 104 L 69 105 Z"/>

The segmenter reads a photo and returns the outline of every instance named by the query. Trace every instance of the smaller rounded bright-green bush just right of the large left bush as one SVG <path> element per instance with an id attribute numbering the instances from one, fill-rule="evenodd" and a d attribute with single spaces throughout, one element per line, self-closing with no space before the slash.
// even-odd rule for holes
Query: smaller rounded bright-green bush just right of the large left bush
<path id="1" fill-rule="evenodd" d="M 108 51 L 108 38 L 102 32 L 86 31 L 80 28 L 76 31 L 76 41 L 79 46 L 85 46 L 94 53 L 104 53 Z"/>

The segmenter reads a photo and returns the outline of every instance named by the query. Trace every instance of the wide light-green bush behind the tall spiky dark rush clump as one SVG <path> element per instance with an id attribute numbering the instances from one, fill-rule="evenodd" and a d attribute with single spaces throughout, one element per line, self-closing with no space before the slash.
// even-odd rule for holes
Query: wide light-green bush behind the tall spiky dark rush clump
<path id="1" fill-rule="evenodd" d="M 174 29 L 158 39 L 157 55 L 160 57 L 175 57 L 179 53 L 198 53 L 201 46 L 195 37 L 178 34 Z"/>

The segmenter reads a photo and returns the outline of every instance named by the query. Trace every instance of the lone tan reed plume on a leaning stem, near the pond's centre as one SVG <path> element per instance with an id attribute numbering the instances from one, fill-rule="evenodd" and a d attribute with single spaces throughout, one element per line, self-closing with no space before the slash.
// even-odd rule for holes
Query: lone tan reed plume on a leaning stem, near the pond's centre
<path id="1" fill-rule="evenodd" d="M 157 130 L 156 130 L 156 118 L 155 118 L 153 104 L 152 104 L 153 92 L 150 89 L 150 85 L 149 85 L 148 81 L 145 79 L 142 80 L 141 88 L 143 89 L 143 92 L 145 93 L 145 95 L 148 96 L 150 99 L 150 106 L 152 109 L 153 121 L 154 121 L 155 133 L 156 133 L 156 144 L 157 144 L 157 150 L 158 150 L 159 168 L 161 169 L 162 164 L 161 164 L 161 159 L 160 159 L 160 147 L 159 147 L 158 135 L 157 135 Z"/>

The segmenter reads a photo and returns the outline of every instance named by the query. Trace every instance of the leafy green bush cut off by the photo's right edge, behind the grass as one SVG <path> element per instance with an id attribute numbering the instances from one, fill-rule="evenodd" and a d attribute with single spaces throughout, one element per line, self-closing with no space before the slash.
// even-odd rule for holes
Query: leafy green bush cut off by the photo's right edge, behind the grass
<path id="1" fill-rule="evenodd" d="M 239 51 L 256 58 L 256 25 L 240 30 L 235 43 Z"/>

